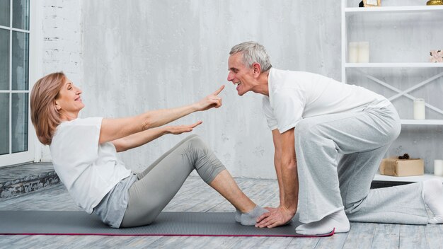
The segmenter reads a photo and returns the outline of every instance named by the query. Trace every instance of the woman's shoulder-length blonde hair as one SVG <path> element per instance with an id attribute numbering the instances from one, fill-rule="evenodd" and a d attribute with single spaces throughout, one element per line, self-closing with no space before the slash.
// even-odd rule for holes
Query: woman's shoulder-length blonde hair
<path id="1" fill-rule="evenodd" d="M 60 114 L 55 108 L 55 99 L 65 79 L 66 76 L 61 71 L 48 74 L 35 83 L 30 93 L 30 118 L 42 144 L 51 144 L 55 128 L 61 122 Z"/>

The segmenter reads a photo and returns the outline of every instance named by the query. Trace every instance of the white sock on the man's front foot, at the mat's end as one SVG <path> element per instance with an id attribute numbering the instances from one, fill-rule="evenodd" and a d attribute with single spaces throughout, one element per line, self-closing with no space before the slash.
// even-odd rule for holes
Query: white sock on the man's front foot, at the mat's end
<path id="1" fill-rule="evenodd" d="M 349 231 L 349 220 L 343 209 L 329 214 L 320 221 L 297 226 L 295 231 L 304 235 L 317 235 L 330 233 L 334 228 L 335 233 L 347 233 Z"/>

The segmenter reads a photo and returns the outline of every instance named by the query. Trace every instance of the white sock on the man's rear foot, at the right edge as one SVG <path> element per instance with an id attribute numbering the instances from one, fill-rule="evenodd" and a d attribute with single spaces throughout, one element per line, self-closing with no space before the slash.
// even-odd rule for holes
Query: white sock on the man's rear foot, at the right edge
<path id="1" fill-rule="evenodd" d="M 434 217 L 429 224 L 443 224 L 443 185 L 439 179 L 425 180 L 423 182 L 422 197 L 427 207 L 431 209 Z"/>

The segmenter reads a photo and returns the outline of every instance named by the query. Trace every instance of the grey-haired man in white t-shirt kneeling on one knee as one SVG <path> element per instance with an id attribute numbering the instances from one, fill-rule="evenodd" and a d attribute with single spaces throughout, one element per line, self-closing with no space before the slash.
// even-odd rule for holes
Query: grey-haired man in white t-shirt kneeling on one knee
<path id="1" fill-rule="evenodd" d="M 429 222 L 442 223 L 439 180 L 369 190 L 401 129 L 389 100 L 318 74 L 274 69 L 256 42 L 229 54 L 228 81 L 238 95 L 263 95 L 275 146 L 280 206 L 267 208 L 256 226 L 281 226 L 297 211 L 304 224 L 296 231 L 307 235 L 345 233 L 349 221 L 427 224 L 425 203 L 435 215 Z"/>

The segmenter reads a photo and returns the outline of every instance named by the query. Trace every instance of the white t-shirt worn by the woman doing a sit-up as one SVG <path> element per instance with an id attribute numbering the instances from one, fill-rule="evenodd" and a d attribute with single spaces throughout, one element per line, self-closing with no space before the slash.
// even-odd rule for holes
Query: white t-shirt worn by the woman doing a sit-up
<path id="1" fill-rule="evenodd" d="M 55 172 L 74 202 L 88 214 L 131 171 L 117 160 L 115 146 L 98 144 L 101 117 L 62 122 L 50 145 Z"/>

